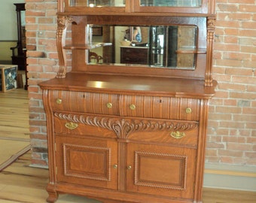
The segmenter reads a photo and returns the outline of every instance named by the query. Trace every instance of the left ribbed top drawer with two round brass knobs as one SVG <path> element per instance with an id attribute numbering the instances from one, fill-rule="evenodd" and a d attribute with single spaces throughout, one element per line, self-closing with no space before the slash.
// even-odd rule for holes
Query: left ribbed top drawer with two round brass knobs
<path id="1" fill-rule="evenodd" d="M 50 103 L 53 111 L 119 114 L 119 95 L 115 94 L 53 90 Z"/>

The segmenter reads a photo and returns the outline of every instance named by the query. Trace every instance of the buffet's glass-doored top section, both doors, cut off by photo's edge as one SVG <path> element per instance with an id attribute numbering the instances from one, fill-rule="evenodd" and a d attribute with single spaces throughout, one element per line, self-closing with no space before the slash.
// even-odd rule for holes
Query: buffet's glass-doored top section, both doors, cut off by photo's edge
<path id="1" fill-rule="evenodd" d="M 99 14 L 213 14 L 215 0 L 58 0 L 60 12 Z"/>

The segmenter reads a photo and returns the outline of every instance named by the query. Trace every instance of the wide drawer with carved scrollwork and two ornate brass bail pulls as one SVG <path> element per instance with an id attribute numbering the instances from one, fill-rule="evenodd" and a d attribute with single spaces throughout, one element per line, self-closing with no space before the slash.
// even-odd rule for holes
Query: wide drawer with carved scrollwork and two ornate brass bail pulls
<path id="1" fill-rule="evenodd" d="M 54 132 L 58 135 L 120 138 L 125 141 L 182 144 L 197 147 L 199 123 L 196 121 L 134 119 L 93 114 L 55 112 Z"/>

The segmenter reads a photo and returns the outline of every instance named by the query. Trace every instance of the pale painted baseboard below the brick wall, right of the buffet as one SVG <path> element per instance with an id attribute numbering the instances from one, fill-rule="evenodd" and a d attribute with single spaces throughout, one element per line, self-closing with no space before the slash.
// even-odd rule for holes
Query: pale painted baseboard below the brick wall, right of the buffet
<path id="1" fill-rule="evenodd" d="M 256 192 L 256 167 L 206 164 L 203 186 Z"/>

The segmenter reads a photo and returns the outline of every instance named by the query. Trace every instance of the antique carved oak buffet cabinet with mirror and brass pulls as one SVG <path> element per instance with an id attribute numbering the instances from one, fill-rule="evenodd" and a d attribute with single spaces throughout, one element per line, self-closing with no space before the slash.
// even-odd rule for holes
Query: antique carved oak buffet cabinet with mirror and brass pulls
<path id="1" fill-rule="evenodd" d="M 58 0 L 57 22 L 47 201 L 202 202 L 215 1 Z"/>

